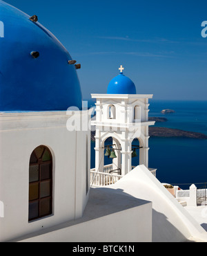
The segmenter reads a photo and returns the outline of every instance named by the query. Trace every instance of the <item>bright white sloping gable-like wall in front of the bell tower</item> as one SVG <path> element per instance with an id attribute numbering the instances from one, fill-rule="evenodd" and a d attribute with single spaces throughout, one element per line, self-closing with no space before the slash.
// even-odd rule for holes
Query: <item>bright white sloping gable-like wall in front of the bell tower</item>
<path id="1" fill-rule="evenodd" d="M 189 237 L 207 241 L 206 231 L 144 165 L 137 166 L 110 188 L 152 201 L 152 241 L 177 242 Z"/>

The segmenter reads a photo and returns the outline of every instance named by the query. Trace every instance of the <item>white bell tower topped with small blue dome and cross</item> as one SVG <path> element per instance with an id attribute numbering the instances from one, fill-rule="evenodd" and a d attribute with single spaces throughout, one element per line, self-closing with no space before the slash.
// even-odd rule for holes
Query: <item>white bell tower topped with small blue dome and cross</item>
<path id="1" fill-rule="evenodd" d="M 132 157 L 139 150 L 139 165 L 148 167 L 148 127 L 155 125 L 148 121 L 148 99 L 152 94 L 137 94 L 135 84 L 123 74 L 108 84 L 106 94 L 91 94 L 96 99 L 95 125 L 95 171 L 105 172 L 104 155 L 112 158 L 110 172 L 124 176 L 132 170 Z M 112 138 L 105 145 L 107 138 Z M 139 146 L 132 146 L 133 140 L 139 140 Z"/>

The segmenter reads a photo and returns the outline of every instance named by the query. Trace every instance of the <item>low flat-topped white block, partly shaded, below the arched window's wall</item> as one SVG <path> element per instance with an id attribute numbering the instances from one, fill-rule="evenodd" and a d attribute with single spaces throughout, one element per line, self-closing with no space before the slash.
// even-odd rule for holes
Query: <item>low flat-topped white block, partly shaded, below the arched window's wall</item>
<path id="1" fill-rule="evenodd" d="M 23 242 L 150 242 L 152 203 L 121 191 L 92 188 L 83 217 L 41 234 L 23 237 Z"/>

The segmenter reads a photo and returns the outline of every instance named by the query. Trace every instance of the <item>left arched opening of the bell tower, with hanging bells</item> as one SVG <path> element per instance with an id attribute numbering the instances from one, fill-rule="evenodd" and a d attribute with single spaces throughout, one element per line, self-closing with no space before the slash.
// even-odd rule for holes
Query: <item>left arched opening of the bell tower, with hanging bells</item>
<path id="1" fill-rule="evenodd" d="M 103 172 L 121 175 L 121 144 L 119 140 L 108 137 L 103 141 Z"/>

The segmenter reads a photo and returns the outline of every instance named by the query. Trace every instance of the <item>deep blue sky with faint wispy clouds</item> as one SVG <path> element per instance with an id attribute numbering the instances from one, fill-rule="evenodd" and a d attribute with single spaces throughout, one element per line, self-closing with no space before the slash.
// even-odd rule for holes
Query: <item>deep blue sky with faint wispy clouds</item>
<path id="1" fill-rule="evenodd" d="M 5 0 L 37 15 L 78 63 L 83 98 L 125 68 L 137 93 L 207 100 L 206 0 Z"/>

